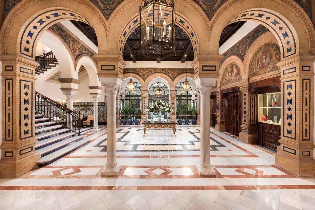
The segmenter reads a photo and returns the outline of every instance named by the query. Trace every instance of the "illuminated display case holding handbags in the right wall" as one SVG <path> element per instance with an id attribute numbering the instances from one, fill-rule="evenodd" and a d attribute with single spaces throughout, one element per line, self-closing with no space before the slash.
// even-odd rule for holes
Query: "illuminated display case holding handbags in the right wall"
<path id="1" fill-rule="evenodd" d="M 258 121 L 277 124 L 281 123 L 281 94 L 267 93 L 258 95 Z"/>

